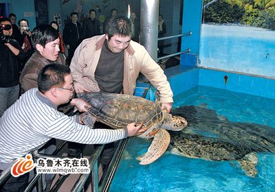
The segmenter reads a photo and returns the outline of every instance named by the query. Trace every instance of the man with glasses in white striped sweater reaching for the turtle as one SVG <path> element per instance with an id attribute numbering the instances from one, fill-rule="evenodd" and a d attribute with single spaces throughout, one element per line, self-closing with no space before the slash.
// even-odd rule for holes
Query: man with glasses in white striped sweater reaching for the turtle
<path id="1" fill-rule="evenodd" d="M 15 159 L 29 154 L 52 138 L 85 144 L 103 144 L 142 134 L 142 124 L 129 123 L 118 130 L 91 129 L 78 115 L 68 117 L 57 107 L 69 102 L 74 86 L 69 67 L 48 64 L 38 77 L 38 88 L 24 93 L 0 119 L 0 173 Z M 72 106 L 87 112 L 90 106 L 83 99 L 72 99 Z M 21 112 L 24 111 L 24 112 Z M 23 191 L 28 185 L 28 174 L 10 178 L 3 189 Z"/>

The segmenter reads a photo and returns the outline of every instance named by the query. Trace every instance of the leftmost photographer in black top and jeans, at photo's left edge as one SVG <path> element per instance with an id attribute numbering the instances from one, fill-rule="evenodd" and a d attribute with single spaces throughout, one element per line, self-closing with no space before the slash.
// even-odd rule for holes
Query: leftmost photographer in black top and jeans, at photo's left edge
<path id="1" fill-rule="evenodd" d="M 0 17 L 0 117 L 19 96 L 19 60 L 25 53 L 12 36 L 12 23 Z"/>

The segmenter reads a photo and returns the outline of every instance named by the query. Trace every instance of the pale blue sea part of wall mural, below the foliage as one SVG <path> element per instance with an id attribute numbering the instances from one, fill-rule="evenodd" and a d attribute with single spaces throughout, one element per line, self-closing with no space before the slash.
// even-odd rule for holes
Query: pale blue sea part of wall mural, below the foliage
<path id="1" fill-rule="evenodd" d="M 275 32 L 238 25 L 201 25 L 199 66 L 274 77 Z"/>

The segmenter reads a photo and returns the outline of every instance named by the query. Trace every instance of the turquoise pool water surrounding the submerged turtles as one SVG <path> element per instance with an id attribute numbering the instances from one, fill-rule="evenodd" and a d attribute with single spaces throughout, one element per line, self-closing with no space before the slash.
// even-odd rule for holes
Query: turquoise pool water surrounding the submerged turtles
<path id="1" fill-rule="evenodd" d="M 206 86 L 192 88 L 174 99 L 174 108 L 202 106 L 217 110 L 230 121 L 275 128 L 275 99 Z M 251 178 L 234 161 L 185 158 L 169 152 L 151 165 L 139 165 L 136 157 L 144 154 L 150 143 L 129 139 L 109 191 L 274 191 L 274 154 L 257 154 L 259 173 Z"/>

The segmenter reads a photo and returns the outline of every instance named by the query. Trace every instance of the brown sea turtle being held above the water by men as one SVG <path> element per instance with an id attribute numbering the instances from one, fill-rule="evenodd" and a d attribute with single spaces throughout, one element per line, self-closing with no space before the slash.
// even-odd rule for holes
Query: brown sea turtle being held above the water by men
<path id="1" fill-rule="evenodd" d="M 78 97 L 92 106 L 89 113 L 82 115 L 85 124 L 93 125 L 94 121 L 100 121 L 118 129 L 132 122 L 143 123 L 146 131 L 139 137 L 154 139 L 148 152 L 140 158 L 141 165 L 153 163 L 164 154 L 170 143 L 170 134 L 166 130 L 180 131 L 187 125 L 184 117 L 172 116 L 162 110 L 158 101 L 115 93 L 82 93 Z"/>

